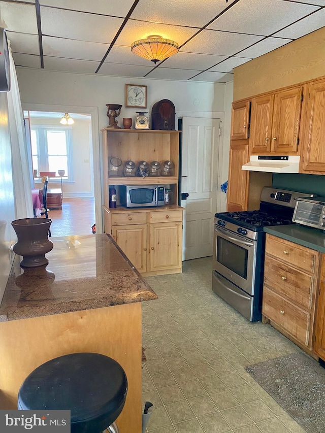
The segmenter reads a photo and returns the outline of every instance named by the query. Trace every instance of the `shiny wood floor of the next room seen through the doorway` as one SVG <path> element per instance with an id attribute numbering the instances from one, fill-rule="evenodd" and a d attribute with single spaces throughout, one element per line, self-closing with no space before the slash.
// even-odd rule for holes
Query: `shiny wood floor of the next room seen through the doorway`
<path id="1" fill-rule="evenodd" d="M 63 198 L 62 210 L 50 210 L 51 234 L 56 236 L 91 235 L 95 223 L 93 198 Z"/>

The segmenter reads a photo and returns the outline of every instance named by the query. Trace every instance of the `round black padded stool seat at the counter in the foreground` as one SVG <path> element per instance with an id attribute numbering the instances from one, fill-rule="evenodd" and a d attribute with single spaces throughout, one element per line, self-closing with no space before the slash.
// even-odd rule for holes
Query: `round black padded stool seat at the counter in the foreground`
<path id="1" fill-rule="evenodd" d="M 20 386 L 18 409 L 71 410 L 71 431 L 100 433 L 121 413 L 127 380 L 121 365 L 99 353 L 59 356 L 32 371 Z"/>

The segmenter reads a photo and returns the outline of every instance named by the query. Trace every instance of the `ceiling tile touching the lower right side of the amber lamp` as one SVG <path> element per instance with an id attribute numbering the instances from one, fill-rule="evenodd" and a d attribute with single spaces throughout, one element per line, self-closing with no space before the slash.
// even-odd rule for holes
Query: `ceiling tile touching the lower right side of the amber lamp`
<path id="1" fill-rule="evenodd" d="M 186 53 L 179 51 L 174 56 L 164 61 L 164 68 L 192 69 L 202 71 L 211 68 L 212 65 L 226 59 L 226 56 L 212 54 Z"/>

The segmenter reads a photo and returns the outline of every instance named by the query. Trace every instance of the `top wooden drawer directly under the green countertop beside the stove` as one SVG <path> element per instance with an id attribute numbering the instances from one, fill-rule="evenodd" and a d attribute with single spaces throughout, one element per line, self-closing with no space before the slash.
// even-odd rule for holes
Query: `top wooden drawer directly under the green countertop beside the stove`
<path id="1" fill-rule="evenodd" d="M 303 271 L 315 272 L 319 253 L 285 239 L 267 234 L 265 252 Z"/>

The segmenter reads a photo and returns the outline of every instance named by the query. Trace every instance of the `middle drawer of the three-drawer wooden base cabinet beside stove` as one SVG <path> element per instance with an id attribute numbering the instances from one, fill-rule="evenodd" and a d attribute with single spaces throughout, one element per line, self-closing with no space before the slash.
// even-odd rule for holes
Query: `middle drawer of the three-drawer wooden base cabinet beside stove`
<path id="1" fill-rule="evenodd" d="M 264 284 L 308 310 L 312 307 L 315 279 L 266 254 Z"/>

